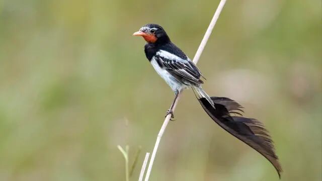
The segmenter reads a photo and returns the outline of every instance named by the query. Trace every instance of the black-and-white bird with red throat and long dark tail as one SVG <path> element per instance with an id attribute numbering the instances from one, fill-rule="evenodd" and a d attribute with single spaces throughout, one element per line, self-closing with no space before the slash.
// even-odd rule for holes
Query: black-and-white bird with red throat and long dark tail
<path id="1" fill-rule="evenodd" d="M 192 88 L 209 117 L 228 133 L 262 154 L 275 167 L 279 178 L 281 177 L 282 167 L 264 124 L 257 119 L 244 117 L 244 107 L 236 101 L 225 97 L 210 97 L 202 88 L 205 78 L 199 68 L 170 40 L 163 27 L 146 24 L 133 33 L 133 36 L 141 36 L 146 41 L 146 58 L 175 93 L 175 99 L 166 116 L 170 114 L 174 118 L 173 108 L 178 95 L 184 89 Z"/>

